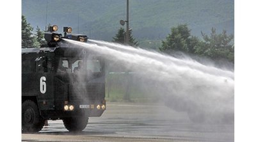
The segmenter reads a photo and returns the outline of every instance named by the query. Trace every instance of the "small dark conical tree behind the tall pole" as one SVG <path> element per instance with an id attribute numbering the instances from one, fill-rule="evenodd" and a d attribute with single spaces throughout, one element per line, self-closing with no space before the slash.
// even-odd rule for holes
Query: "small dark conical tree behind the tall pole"
<path id="1" fill-rule="evenodd" d="M 124 43 L 125 40 L 125 31 L 124 28 L 118 29 L 116 35 L 113 37 L 112 42 Z M 132 36 L 132 31 L 129 31 L 129 45 L 138 46 L 138 41 Z"/>

